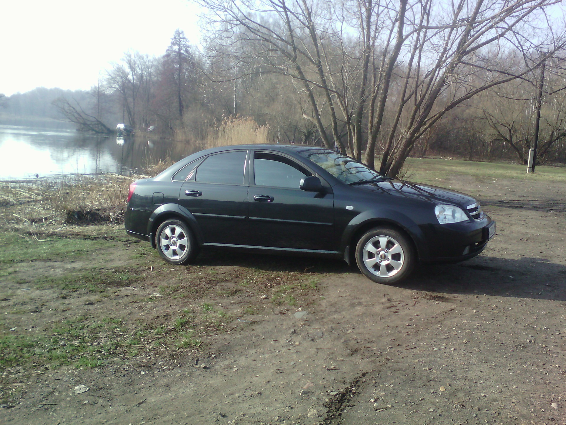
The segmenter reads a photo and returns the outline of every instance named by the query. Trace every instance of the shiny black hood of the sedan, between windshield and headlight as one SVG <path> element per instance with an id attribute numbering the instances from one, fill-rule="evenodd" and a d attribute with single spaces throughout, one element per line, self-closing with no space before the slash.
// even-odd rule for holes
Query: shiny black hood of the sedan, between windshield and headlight
<path id="1" fill-rule="evenodd" d="M 468 207 L 477 202 L 474 197 L 456 190 L 438 188 L 402 180 L 387 180 L 378 183 L 357 186 L 359 189 L 370 192 L 388 194 L 409 199 L 421 199 L 432 203 L 448 203 Z"/>

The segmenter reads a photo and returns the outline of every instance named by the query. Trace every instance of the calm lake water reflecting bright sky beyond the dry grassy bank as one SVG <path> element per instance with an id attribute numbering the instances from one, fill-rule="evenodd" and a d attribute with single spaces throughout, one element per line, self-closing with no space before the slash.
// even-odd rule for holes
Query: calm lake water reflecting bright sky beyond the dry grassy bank
<path id="1" fill-rule="evenodd" d="M 0 180 L 71 173 L 130 175 L 148 163 L 168 156 L 179 160 L 195 150 L 151 133 L 119 138 L 68 129 L 0 125 Z"/>

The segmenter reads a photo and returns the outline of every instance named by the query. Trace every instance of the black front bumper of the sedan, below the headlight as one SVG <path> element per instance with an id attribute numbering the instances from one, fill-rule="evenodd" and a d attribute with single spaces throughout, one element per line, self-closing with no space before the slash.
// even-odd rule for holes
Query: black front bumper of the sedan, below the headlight
<path id="1" fill-rule="evenodd" d="M 477 256 L 495 235 L 495 222 L 483 219 L 453 224 L 421 226 L 428 244 L 428 258 L 422 262 L 458 262 Z"/>

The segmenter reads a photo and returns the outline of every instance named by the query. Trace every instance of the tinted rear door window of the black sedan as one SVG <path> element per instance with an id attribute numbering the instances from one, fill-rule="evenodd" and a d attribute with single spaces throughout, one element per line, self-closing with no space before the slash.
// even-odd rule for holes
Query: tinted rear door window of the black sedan
<path id="1" fill-rule="evenodd" d="M 235 151 L 209 156 L 196 169 L 195 181 L 243 185 L 246 154 L 246 151 Z"/>

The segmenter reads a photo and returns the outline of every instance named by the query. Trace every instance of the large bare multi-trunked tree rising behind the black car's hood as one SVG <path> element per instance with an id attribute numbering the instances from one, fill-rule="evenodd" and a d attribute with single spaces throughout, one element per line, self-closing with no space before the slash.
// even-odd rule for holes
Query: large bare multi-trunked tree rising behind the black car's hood
<path id="1" fill-rule="evenodd" d="M 561 48 L 563 33 L 554 33 L 544 16 L 556 2 L 201 3 L 215 28 L 215 53 L 239 59 L 247 73 L 263 67 L 295 80 L 308 99 L 305 116 L 326 146 L 348 146 L 361 158 L 365 145 L 371 167 L 378 150 L 380 171 L 396 176 L 418 139 L 445 113 L 523 78 L 538 66 L 530 59 L 538 45 L 547 47 L 547 56 Z M 509 71 L 500 61 L 505 56 L 527 65 L 520 73 Z"/>

